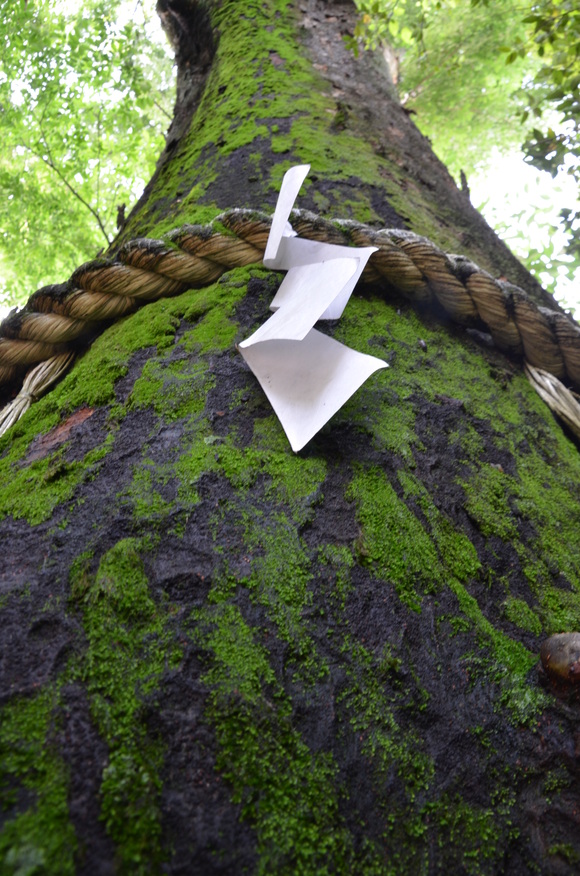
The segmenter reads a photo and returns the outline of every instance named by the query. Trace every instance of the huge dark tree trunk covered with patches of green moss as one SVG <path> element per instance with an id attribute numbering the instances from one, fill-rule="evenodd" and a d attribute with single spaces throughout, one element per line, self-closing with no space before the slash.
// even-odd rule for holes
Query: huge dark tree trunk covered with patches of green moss
<path id="1" fill-rule="evenodd" d="M 545 293 L 455 187 L 350 4 L 161 0 L 180 62 L 123 234 L 225 207 L 410 228 Z M 118 242 L 120 243 L 120 241 Z M 357 290 L 387 359 L 300 454 L 236 353 L 260 266 L 108 329 L 0 441 L 2 873 L 565 873 L 580 456 L 520 364 Z"/>

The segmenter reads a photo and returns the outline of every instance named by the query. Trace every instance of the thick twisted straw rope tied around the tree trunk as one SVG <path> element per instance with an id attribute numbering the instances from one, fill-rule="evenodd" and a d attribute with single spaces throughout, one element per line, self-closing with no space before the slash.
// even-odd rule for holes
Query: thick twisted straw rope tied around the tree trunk
<path id="1" fill-rule="evenodd" d="M 0 435 L 70 367 L 73 354 L 103 324 L 147 301 L 205 286 L 231 268 L 262 261 L 270 223 L 265 214 L 229 210 L 211 225 L 184 225 L 162 240 L 129 241 L 114 260 L 87 262 L 68 283 L 35 292 L 0 324 L 0 385 L 22 380 L 29 366 L 37 366 L 20 395 L 0 411 Z M 519 287 L 495 280 L 463 256 L 446 255 L 410 231 L 333 224 L 301 210 L 293 211 L 292 225 L 311 240 L 376 246 L 363 281 L 386 282 L 387 291 L 439 306 L 459 325 L 487 330 L 499 349 L 525 358 L 532 384 L 538 391 L 543 386 L 542 397 L 557 413 L 561 403 L 558 409 L 549 398 L 554 391 L 558 395 L 558 386 L 565 390 L 559 381 L 580 388 L 580 326 L 536 305 Z M 548 373 L 552 395 L 547 378 L 534 380 L 534 369 Z M 580 438 L 580 406 L 568 396 L 566 423 Z"/>

